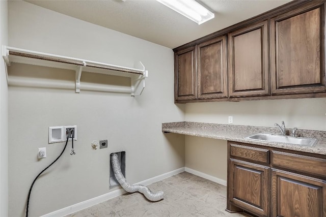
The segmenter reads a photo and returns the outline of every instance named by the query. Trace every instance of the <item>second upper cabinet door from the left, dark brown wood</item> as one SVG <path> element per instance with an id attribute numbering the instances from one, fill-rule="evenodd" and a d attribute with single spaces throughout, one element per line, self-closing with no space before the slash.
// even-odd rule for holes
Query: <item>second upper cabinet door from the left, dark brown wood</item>
<path id="1" fill-rule="evenodd" d="M 197 47 L 198 99 L 226 98 L 226 36 Z"/>

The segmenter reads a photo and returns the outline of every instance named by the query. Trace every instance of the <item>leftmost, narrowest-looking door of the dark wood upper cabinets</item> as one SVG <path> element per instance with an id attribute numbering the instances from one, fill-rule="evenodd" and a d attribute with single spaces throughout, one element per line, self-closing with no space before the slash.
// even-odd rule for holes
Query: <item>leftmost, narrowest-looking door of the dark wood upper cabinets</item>
<path id="1" fill-rule="evenodd" d="M 175 53 L 175 99 L 193 100 L 197 98 L 197 76 L 195 47 Z"/>

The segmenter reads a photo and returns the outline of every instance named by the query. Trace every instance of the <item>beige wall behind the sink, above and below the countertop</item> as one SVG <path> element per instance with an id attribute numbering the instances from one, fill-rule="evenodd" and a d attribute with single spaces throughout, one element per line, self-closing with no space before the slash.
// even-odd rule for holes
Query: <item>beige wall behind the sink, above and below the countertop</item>
<path id="1" fill-rule="evenodd" d="M 233 116 L 234 125 L 274 127 L 274 123 L 284 120 L 287 128 L 323 131 L 326 130 L 325 113 L 325 98 L 188 103 L 185 106 L 186 121 L 227 124 L 228 116 Z M 225 140 L 186 136 L 185 156 L 185 167 L 226 181 Z"/>

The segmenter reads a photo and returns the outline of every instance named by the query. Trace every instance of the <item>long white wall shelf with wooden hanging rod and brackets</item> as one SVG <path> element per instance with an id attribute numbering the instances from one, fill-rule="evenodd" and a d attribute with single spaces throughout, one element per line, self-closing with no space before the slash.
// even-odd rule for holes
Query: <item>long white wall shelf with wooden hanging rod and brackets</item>
<path id="1" fill-rule="evenodd" d="M 6 66 L 9 67 L 11 63 L 20 63 L 44 67 L 52 67 L 58 69 L 68 69 L 75 71 L 75 92 L 79 93 L 80 89 L 95 90 L 95 91 L 113 91 L 113 92 L 126 92 L 126 88 L 117 87 L 99 87 L 96 85 L 90 86 L 88 84 L 81 84 L 80 78 L 82 77 L 82 72 L 99 73 L 105 75 L 114 75 L 129 77 L 131 80 L 130 84 L 130 94 L 131 96 L 141 95 L 145 87 L 145 78 L 148 77 L 148 71 L 145 70 L 144 65 L 139 62 L 135 65 L 136 68 L 122 67 L 112 64 L 99 63 L 96 61 L 78 59 L 67 56 L 60 56 L 49 53 L 42 53 L 31 50 L 24 50 L 14 47 L 4 46 L 3 58 L 5 60 Z M 8 75 L 7 75 L 8 78 Z M 15 85 L 21 84 L 21 81 L 17 79 L 8 79 L 8 84 L 11 82 Z M 28 86 L 33 87 L 44 87 L 45 84 L 40 82 L 29 81 Z"/>

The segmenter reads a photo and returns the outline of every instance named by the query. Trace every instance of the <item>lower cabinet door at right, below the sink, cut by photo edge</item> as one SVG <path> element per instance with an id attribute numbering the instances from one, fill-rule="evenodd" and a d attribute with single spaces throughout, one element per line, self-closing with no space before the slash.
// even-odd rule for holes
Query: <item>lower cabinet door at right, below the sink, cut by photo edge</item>
<path id="1" fill-rule="evenodd" d="M 326 180 L 272 169 L 272 216 L 326 216 Z"/>

